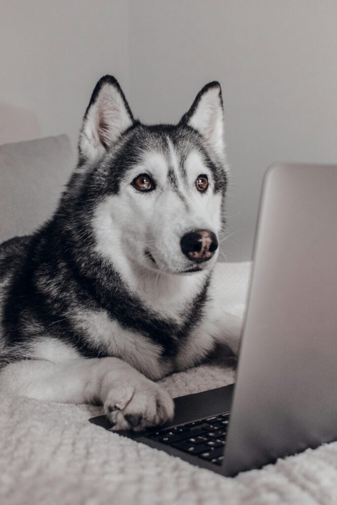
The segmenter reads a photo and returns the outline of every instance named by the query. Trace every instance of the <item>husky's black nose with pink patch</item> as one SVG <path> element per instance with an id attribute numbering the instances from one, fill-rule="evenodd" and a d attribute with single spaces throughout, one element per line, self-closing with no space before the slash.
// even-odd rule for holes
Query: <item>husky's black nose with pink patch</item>
<path id="1" fill-rule="evenodd" d="M 213 258 L 218 248 L 218 239 L 213 231 L 195 230 L 181 237 L 180 246 L 189 260 L 201 263 Z"/>

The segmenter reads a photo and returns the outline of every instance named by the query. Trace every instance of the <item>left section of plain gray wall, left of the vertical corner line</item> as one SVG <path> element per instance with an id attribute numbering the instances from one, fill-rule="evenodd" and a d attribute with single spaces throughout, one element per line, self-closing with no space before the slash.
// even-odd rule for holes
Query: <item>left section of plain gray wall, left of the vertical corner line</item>
<path id="1" fill-rule="evenodd" d="M 0 0 L 0 144 L 78 131 L 95 83 L 129 91 L 124 0 Z"/>

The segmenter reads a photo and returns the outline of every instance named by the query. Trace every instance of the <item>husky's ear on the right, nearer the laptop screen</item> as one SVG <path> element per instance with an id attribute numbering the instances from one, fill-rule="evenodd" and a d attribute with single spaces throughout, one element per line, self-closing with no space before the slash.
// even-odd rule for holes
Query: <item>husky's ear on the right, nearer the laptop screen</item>
<path id="1" fill-rule="evenodd" d="M 214 149 L 220 160 L 225 156 L 224 122 L 221 86 L 217 81 L 210 82 L 197 94 L 191 108 L 181 118 L 197 130 Z"/>

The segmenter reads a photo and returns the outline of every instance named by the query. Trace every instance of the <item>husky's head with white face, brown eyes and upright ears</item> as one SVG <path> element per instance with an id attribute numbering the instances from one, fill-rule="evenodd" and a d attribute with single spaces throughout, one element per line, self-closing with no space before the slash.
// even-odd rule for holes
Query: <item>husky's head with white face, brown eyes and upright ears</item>
<path id="1" fill-rule="evenodd" d="M 209 270 L 226 189 L 219 83 L 206 85 L 177 125 L 147 126 L 133 119 L 118 82 L 103 77 L 83 119 L 77 172 L 97 198 L 91 225 L 105 259 L 156 272 Z"/>

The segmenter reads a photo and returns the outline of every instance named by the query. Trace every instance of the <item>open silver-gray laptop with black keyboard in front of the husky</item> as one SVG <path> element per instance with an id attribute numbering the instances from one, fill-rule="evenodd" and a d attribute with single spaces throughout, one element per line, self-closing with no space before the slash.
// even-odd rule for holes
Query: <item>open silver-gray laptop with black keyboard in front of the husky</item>
<path id="1" fill-rule="evenodd" d="M 336 390 L 337 166 L 274 165 L 235 386 L 176 398 L 172 423 L 123 435 L 233 476 L 337 440 Z"/>

